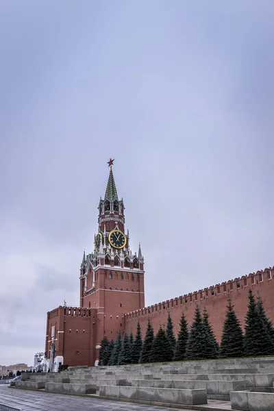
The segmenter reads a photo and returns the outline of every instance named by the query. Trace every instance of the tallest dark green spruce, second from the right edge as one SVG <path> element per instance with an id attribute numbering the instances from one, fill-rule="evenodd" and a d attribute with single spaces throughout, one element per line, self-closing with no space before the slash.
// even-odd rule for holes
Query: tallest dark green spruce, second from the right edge
<path id="1" fill-rule="evenodd" d="M 264 345 L 267 339 L 264 325 L 258 314 L 258 308 L 252 290 L 249 290 L 249 305 L 245 316 L 245 356 L 256 357 L 265 354 Z"/>

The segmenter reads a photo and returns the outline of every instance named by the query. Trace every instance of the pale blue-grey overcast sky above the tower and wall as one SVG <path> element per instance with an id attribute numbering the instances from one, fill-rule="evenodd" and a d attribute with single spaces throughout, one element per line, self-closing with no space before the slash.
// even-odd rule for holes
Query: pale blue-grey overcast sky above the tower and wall
<path id="1" fill-rule="evenodd" d="M 0 364 L 45 349 L 114 178 L 146 304 L 274 265 L 273 0 L 2 0 Z"/>

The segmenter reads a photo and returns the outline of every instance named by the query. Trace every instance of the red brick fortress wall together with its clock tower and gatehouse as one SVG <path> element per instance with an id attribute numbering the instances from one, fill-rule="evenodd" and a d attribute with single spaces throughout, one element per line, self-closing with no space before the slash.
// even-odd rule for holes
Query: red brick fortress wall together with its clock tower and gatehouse
<path id="1" fill-rule="evenodd" d="M 105 197 L 99 200 L 94 249 L 87 255 L 84 252 L 80 265 L 79 307 L 60 306 L 47 313 L 47 367 L 57 371 L 58 364 L 95 365 L 104 335 L 115 340 L 119 330 L 135 334 L 139 321 L 145 336 L 149 319 L 157 332 L 160 325 L 166 325 L 168 312 L 177 334 L 182 312 L 191 325 L 197 305 L 208 310 L 220 340 L 227 300 L 232 300 L 243 326 L 249 289 L 262 298 L 266 314 L 274 322 L 274 267 L 145 307 L 145 260 L 140 245 L 138 252 L 130 248 L 125 207 L 112 173 L 113 161 L 108 162 Z"/>

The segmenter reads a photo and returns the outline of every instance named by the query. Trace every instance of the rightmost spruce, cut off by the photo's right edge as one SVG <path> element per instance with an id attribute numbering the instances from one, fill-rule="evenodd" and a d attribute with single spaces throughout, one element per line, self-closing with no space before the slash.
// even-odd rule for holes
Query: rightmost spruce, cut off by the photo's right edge
<path id="1" fill-rule="evenodd" d="M 261 355 L 271 356 L 274 353 L 274 328 L 272 321 L 266 316 L 264 305 L 260 297 L 257 301 L 257 312 L 261 329 Z"/>

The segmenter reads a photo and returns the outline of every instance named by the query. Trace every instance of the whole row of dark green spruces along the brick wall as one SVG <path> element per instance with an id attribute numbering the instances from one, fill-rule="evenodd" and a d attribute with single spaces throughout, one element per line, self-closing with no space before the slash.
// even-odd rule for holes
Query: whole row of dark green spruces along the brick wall
<path id="1" fill-rule="evenodd" d="M 223 324 L 221 344 L 216 340 L 206 308 L 201 313 L 197 306 L 190 329 L 184 313 L 180 321 L 177 339 L 173 332 L 173 322 L 169 314 L 166 328 L 160 327 L 154 336 L 151 322 L 142 341 L 140 323 L 137 324 L 136 337 L 121 333 L 108 341 L 101 341 L 99 365 L 136 364 L 138 362 L 164 362 L 179 360 L 210 360 L 215 358 L 238 358 L 268 356 L 274 354 L 273 323 L 266 316 L 262 300 L 256 301 L 249 290 L 249 305 L 245 316 L 245 334 L 228 301 L 227 313 Z"/>

